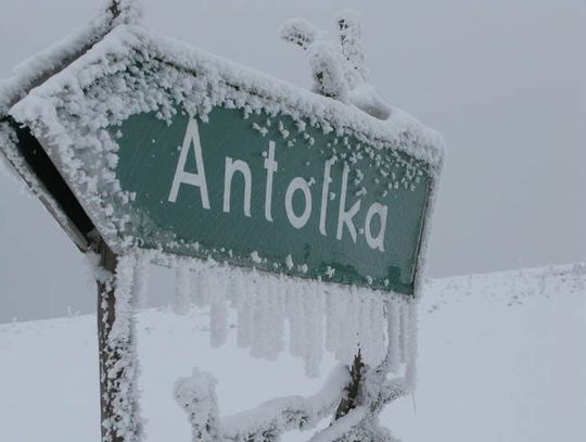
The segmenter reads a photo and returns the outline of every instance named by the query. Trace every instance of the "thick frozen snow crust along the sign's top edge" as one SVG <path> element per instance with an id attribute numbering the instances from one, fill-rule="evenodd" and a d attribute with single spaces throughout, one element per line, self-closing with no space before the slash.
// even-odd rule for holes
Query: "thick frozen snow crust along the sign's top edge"
<path id="1" fill-rule="evenodd" d="M 107 77 L 117 73 L 126 74 L 123 77 L 126 81 L 122 84 L 116 78 L 117 85 L 109 85 Z M 103 83 L 97 84 L 99 80 Z M 99 88 L 92 86 L 122 94 L 100 94 Z M 149 86 L 156 90 L 149 90 Z M 239 97 L 239 90 L 244 90 L 246 96 Z M 202 92 L 207 93 L 200 96 Z M 250 96 L 256 96 L 256 100 Z M 398 109 L 393 109 L 387 119 L 378 119 L 355 106 L 138 26 L 115 28 L 65 71 L 34 89 L 11 113 L 23 123 L 44 125 L 39 135 L 53 144 L 61 141 L 60 137 L 68 140 L 63 134 L 67 122 L 54 121 L 65 112 L 79 118 L 75 122 L 78 126 L 103 129 L 119 125 L 136 113 L 156 111 L 162 118 L 169 118 L 177 112 L 174 104 L 183 105 L 194 115 L 205 115 L 214 105 L 231 104 L 251 112 L 264 110 L 272 115 L 311 117 L 324 127 L 333 126 L 335 130 L 349 130 L 378 141 L 380 148 L 403 151 L 423 161 L 433 174 L 440 172 L 442 164 L 444 144 L 440 134 Z M 107 112 L 98 121 L 89 119 L 98 116 L 98 110 Z M 40 131 L 40 127 L 35 128 Z"/>

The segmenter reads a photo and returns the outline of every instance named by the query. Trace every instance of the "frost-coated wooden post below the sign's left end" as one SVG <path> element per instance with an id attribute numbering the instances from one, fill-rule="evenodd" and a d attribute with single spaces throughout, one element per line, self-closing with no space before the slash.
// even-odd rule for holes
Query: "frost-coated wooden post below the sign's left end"
<path id="1" fill-rule="evenodd" d="M 98 278 L 98 345 L 102 442 L 136 442 L 139 434 L 135 403 L 136 354 L 128 312 L 120 315 L 117 289 L 119 262 L 103 240 L 94 247 L 103 278 Z M 113 339 L 112 332 L 116 333 Z"/>

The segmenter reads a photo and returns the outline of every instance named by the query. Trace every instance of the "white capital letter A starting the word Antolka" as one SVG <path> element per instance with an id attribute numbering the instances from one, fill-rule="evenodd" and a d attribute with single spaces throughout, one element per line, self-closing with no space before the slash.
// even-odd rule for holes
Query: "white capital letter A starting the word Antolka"
<path id="1" fill-rule="evenodd" d="M 186 163 L 192 144 L 195 151 L 195 165 L 198 167 L 196 174 L 186 172 Z M 200 194 L 202 197 L 202 206 L 209 210 L 209 198 L 207 197 L 207 181 L 205 180 L 202 144 L 200 143 L 200 130 L 198 128 L 198 122 L 195 118 L 189 118 L 186 136 L 183 138 L 183 147 L 181 148 L 181 153 L 179 154 L 179 161 L 177 162 L 175 178 L 173 179 L 173 186 L 169 193 L 169 201 L 171 203 L 177 201 L 177 194 L 179 193 L 179 188 L 182 184 L 199 187 Z"/>

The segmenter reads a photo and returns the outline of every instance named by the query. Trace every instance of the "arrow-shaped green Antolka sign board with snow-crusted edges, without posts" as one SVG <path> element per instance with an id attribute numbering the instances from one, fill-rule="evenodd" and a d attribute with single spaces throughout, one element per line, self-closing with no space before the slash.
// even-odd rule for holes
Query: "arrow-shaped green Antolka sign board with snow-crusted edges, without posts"
<path id="1" fill-rule="evenodd" d="M 382 121 L 120 26 L 11 116 L 116 253 L 413 293 L 441 141 L 399 111 Z"/>

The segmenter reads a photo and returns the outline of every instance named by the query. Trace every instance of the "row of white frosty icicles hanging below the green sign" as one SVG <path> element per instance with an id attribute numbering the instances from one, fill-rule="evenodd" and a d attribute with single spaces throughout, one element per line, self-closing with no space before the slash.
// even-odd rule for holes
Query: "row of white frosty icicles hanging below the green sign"
<path id="1" fill-rule="evenodd" d="M 137 260 L 135 299 L 145 305 L 149 257 Z M 167 265 L 169 263 L 166 263 Z M 255 358 L 276 361 L 289 350 L 304 361 L 308 377 L 319 376 L 324 352 L 351 364 L 360 350 L 367 365 L 386 358 L 399 375 L 415 361 L 416 303 L 368 289 L 173 260 L 173 310 L 209 310 L 211 345 L 219 348 L 235 329 L 238 346 Z M 234 326 L 231 327 L 231 324 Z"/>

